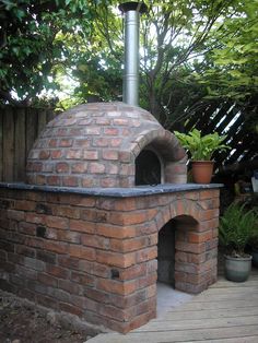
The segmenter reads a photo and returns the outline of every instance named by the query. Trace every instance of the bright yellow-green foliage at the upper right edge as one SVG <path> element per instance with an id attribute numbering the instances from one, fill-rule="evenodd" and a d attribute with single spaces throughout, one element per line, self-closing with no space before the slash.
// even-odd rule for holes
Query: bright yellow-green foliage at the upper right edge
<path id="1" fill-rule="evenodd" d="M 214 27 L 216 46 L 210 50 L 211 64 L 198 82 L 208 87 L 208 97 L 245 99 L 258 93 L 258 0 L 235 3 L 234 12 Z M 209 42 L 207 43 L 209 44 Z"/>

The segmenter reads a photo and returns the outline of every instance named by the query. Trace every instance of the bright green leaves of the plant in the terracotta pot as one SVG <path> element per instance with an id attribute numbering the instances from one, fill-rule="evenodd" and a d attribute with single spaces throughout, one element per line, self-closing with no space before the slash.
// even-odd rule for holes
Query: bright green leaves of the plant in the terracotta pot
<path id="1" fill-rule="evenodd" d="M 181 145 L 187 149 L 194 161 L 210 161 L 215 151 L 228 149 L 223 144 L 226 135 L 219 135 L 218 132 L 209 133 L 201 137 L 201 131 L 194 129 L 188 134 L 174 132 Z"/>

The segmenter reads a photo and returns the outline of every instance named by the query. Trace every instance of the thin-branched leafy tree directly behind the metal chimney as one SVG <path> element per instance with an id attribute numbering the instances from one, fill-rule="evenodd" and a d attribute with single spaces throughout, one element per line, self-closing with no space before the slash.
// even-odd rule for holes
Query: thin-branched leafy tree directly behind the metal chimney
<path id="1" fill-rule="evenodd" d="M 231 17 L 241 17 L 243 8 L 235 0 L 145 3 L 149 13 L 141 19 L 140 105 L 171 128 L 204 106 L 210 91 L 204 71 L 213 64 L 211 51 L 233 29 Z M 96 9 L 91 44 L 82 42 L 73 57 L 80 99 L 90 94 L 104 100 L 121 95 L 124 37 L 120 17 L 113 11 L 116 4 L 113 1 Z"/>

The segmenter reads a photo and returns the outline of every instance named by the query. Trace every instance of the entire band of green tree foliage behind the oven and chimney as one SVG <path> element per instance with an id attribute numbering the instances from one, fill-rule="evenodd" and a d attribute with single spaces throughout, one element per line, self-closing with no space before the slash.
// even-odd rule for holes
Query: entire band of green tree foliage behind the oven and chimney
<path id="1" fill-rule="evenodd" d="M 59 108 L 121 99 L 124 24 L 117 0 L 0 0 L 0 102 Z M 146 0 L 140 105 L 167 129 L 210 97 L 256 92 L 257 0 Z M 69 79 L 70 85 L 63 80 Z M 63 99 L 66 94 L 66 98 Z M 235 97 L 234 97 L 235 96 Z"/>

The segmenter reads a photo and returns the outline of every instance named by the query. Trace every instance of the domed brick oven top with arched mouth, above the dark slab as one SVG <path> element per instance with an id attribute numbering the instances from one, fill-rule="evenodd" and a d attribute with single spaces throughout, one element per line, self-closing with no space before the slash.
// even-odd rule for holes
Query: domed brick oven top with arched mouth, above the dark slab
<path id="1" fill-rule="evenodd" d="M 104 188 L 186 182 L 186 155 L 146 110 L 87 104 L 47 125 L 30 153 L 27 181 Z"/>

